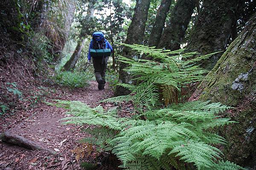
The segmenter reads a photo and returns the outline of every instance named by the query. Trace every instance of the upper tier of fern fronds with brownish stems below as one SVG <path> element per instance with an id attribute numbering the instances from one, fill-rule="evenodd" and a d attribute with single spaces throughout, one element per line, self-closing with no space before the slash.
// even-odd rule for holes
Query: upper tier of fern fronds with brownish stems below
<path id="1" fill-rule="evenodd" d="M 134 77 L 133 81 L 137 82 L 137 84 L 148 82 L 148 84 L 153 83 L 157 86 L 166 105 L 182 102 L 184 95 L 183 88 L 187 85 L 209 79 L 209 77 L 204 76 L 208 71 L 195 65 L 195 62 L 207 59 L 215 53 L 188 60 L 188 58 L 198 53 L 184 53 L 184 49 L 170 51 L 137 44 L 123 45 L 131 47 L 138 54 L 143 53 L 154 58 L 155 61 L 151 61 L 119 56 L 119 61 L 130 65 L 125 71 Z M 139 86 L 137 88 L 138 90 L 140 89 Z"/>

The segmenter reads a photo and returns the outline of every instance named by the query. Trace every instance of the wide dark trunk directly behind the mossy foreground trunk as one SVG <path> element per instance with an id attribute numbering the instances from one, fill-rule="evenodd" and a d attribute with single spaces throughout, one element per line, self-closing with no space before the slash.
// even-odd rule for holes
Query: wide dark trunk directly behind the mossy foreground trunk
<path id="1" fill-rule="evenodd" d="M 237 21 L 241 0 L 204 0 L 198 20 L 189 37 L 186 49 L 201 55 L 225 51 L 230 43 L 232 27 Z M 212 69 L 223 52 L 201 62 L 202 67 Z"/>

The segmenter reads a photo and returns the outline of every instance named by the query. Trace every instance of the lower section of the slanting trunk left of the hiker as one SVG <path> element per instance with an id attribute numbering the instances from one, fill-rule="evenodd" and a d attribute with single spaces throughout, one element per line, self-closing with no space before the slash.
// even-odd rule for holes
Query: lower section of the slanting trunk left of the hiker
<path id="1" fill-rule="evenodd" d="M 69 61 L 67 61 L 67 63 L 65 63 L 65 65 L 64 65 L 65 71 L 71 71 L 72 69 L 75 68 L 76 63 L 77 63 L 79 56 L 82 52 L 82 49 L 84 47 L 84 42 L 85 42 L 85 39 L 82 39 L 82 38 L 79 39 L 77 46 L 76 46 L 76 50 L 74 51 L 74 53 L 71 56 L 71 58 L 69 59 Z"/>

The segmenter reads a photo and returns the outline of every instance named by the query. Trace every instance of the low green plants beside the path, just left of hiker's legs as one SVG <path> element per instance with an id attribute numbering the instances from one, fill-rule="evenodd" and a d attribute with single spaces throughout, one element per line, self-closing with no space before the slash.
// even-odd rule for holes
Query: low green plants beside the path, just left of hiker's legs
<path id="1" fill-rule="evenodd" d="M 70 88 L 88 86 L 90 79 L 91 75 L 88 72 L 59 72 L 53 77 L 55 83 Z"/>

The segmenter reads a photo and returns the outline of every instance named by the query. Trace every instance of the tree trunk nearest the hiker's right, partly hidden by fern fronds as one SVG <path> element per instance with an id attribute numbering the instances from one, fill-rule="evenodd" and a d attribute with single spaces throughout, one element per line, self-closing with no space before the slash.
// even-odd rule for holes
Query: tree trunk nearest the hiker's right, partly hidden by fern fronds
<path id="1" fill-rule="evenodd" d="M 127 31 L 127 37 L 125 43 L 128 44 L 141 44 L 143 42 L 143 35 L 145 31 L 145 23 L 148 18 L 148 9 L 150 5 L 150 0 L 137 0 L 135 11 L 133 18 L 131 20 L 131 25 Z M 134 52 L 131 51 L 130 48 L 124 47 L 122 55 L 127 58 L 133 58 L 135 55 Z M 131 84 L 131 77 L 125 72 L 123 69 L 128 67 L 126 63 L 120 63 L 120 70 L 119 70 L 119 83 L 128 83 Z M 118 86 L 116 88 L 116 95 L 125 95 L 128 91 Z"/>

